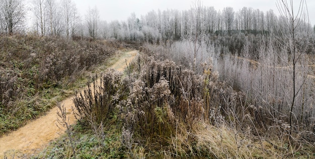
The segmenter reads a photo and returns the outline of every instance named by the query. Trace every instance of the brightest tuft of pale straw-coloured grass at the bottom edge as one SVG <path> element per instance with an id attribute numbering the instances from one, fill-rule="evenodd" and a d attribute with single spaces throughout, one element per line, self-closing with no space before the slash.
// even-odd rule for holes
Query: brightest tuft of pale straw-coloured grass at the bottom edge
<path id="1" fill-rule="evenodd" d="M 208 150 L 216 158 L 277 157 L 265 149 L 263 145 L 265 141 L 254 141 L 251 132 L 248 132 L 248 136 L 242 132 L 235 133 L 235 130 L 224 124 L 211 126 L 202 122 L 196 124 L 194 134 L 197 141 L 196 146 L 200 147 L 199 151 L 207 152 Z"/>

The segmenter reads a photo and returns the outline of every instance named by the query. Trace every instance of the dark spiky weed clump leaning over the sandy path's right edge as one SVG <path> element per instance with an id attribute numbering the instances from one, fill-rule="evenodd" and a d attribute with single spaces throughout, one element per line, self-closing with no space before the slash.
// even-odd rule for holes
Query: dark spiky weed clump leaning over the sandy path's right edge
<path id="1" fill-rule="evenodd" d="M 93 77 L 88 88 L 73 99 L 78 117 L 93 116 L 97 124 L 105 123 L 119 101 L 128 95 L 127 82 L 122 81 L 121 77 L 121 73 L 112 69 L 101 75 L 100 79 Z"/>

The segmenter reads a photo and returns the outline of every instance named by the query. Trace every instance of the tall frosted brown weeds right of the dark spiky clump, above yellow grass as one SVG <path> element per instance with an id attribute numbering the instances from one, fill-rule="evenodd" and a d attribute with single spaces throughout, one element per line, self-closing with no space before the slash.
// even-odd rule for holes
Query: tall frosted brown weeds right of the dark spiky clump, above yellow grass
<path id="1" fill-rule="evenodd" d="M 143 60 L 144 66 L 131 64 L 130 69 L 140 75 L 132 83 L 128 100 L 119 106 L 125 114 L 124 126 L 131 132 L 141 136 L 170 136 L 176 132 L 178 122 L 189 129 L 200 120 L 219 125 L 215 118 L 232 118 L 232 110 L 238 113 L 237 117 L 250 113 L 241 110 L 241 105 L 245 105 L 241 102 L 245 100 L 244 94 L 220 83 L 211 64 L 203 65 L 205 73 L 201 76 L 173 61 L 154 57 Z"/>

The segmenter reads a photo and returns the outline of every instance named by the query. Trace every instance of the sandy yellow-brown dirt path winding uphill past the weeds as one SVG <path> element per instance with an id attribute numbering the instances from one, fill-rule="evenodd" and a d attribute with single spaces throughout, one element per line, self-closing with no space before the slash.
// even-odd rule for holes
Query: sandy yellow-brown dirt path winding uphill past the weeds
<path id="1" fill-rule="evenodd" d="M 132 51 L 121 55 L 111 68 L 123 71 L 126 64 L 129 64 L 137 53 L 137 51 Z M 76 121 L 71 109 L 71 106 L 74 105 L 72 98 L 73 97 L 67 98 L 61 102 L 61 105 L 64 104 L 66 108 L 70 124 Z M 5 153 L 8 156 L 15 155 L 14 158 L 21 158 L 24 154 L 31 155 L 44 148 L 51 140 L 59 137 L 63 133 L 63 130 L 60 130 L 56 126 L 56 119 L 57 107 L 54 107 L 47 115 L 0 138 L 0 159 L 4 158 Z"/>

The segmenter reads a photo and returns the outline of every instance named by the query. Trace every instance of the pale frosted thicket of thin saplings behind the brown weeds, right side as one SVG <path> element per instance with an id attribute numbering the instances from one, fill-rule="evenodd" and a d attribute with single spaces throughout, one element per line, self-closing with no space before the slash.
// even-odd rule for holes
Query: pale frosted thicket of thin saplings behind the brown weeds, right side
<path id="1" fill-rule="evenodd" d="M 290 135 L 287 127 L 290 125 L 293 71 L 290 60 L 283 60 L 290 59 L 291 55 L 287 55 L 285 49 L 281 50 L 275 46 L 272 40 L 260 37 L 263 41 L 258 42 L 259 37 L 247 36 L 244 42 L 246 45 L 239 48 L 240 52 L 227 49 L 225 44 L 232 41 L 232 38 L 228 40 L 227 37 L 218 36 L 213 39 L 218 42 L 215 45 L 200 45 L 195 73 L 204 74 L 204 64 L 210 62 L 213 65 L 212 71 L 220 73 L 219 81 L 232 86 L 237 92 L 243 92 L 241 94 L 246 92 L 246 100 L 243 101 L 247 103 L 244 103 L 243 107 L 251 112 L 255 126 L 260 129 L 259 133 L 287 138 Z M 235 40 L 238 41 L 237 39 Z M 222 45 L 219 45 L 219 41 Z M 141 50 L 157 59 L 172 59 L 176 64 L 192 69 L 194 58 L 191 45 L 188 41 L 181 41 L 174 42 L 171 46 L 146 45 Z M 312 117 L 315 112 L 312 106 L 315 99 L 312 91 L 314 79 L 311 76 L 306 77 L 307 74 L 312 75 L 313 69 L 312 65 L 307 64 L 309 57 L 312 56 L 301 56 L 295 67 L 295 85 L 298 86 L 299 92 L 292 111 L 294 122 L 291 125 L 291 136 L 295 136 L 294 140 L 300 143 L 304 140 L 313 142 L 315 139 Z M 219 104 L 222 102 L 225 101 Z M 247 109 L 248 106 L 251 106 L 250 109 Z M 238 115 L 237 112 L 235 115 Z M 239 117 L 241 121 L 242 116 Z"/>

